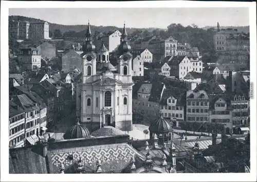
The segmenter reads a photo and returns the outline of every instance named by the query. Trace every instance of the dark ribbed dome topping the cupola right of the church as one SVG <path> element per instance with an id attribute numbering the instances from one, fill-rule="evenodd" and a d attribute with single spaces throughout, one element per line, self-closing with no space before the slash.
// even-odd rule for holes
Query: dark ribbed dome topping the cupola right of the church
<path id="1" fill-rule="evenodd" d="M 151 133 L 169 133 L 172 132 L 172 124 L 169 119 L 160 117 L 150 125 L 149 131 Z"/>

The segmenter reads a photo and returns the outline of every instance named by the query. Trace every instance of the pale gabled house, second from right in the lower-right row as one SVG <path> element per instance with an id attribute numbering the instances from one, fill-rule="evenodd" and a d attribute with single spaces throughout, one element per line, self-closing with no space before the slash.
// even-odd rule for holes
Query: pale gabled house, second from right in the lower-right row
<path id="1" fill-rule="evenodd" d="M 224 96 L 210 97 L 209 120 L 210 123 L 222 124 L 226 134 L 232 133 L 232 107 L 230 100 Z"/>

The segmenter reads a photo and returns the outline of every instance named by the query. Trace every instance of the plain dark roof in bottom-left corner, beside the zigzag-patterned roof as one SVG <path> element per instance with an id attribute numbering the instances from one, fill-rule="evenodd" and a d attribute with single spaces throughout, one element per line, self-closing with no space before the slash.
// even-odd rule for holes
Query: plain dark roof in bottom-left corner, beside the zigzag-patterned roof
<path id="1" fill-rule="evenodd" d="M 9 173 L 47 174 L 47 160 L 42 156 L 42 151 L 38 145 L 10 149 Z"/>

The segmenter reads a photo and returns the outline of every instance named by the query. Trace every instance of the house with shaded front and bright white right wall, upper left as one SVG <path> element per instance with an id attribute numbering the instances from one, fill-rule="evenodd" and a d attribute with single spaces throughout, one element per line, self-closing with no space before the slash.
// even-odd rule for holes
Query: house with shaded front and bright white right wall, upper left
<path id="1" fill-rule="evenodd" d="M 38 70 L 41 68 L 41 55 L 38 49 L 27 47 L 21 48 L 21 53 L 18 55 L 19 62 L 22 65 L 22 70 Z"/>

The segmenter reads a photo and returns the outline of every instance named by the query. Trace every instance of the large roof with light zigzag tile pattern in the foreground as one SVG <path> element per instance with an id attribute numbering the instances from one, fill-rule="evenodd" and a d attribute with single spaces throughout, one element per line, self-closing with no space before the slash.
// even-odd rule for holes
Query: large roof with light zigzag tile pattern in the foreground
<path id="1" fill-rule="evenodd" d="M 102 173 L 115 172 L 130 164 L 133 156 L 140 156 L 139 152 L 126 143 L 51 150 L 48 154 L 51 156 L 51 173 L 59 173 L 61 164 L 64 165 L 65 169 L 69 168 L 74 164 L 74 160 L 78 161 L 80 157 L 90 167 L 89 170 L 95 171 L 97 160 L 101 160 Z M 73 155 L 74 160 L 67 158 L 69 154 Z"/>

